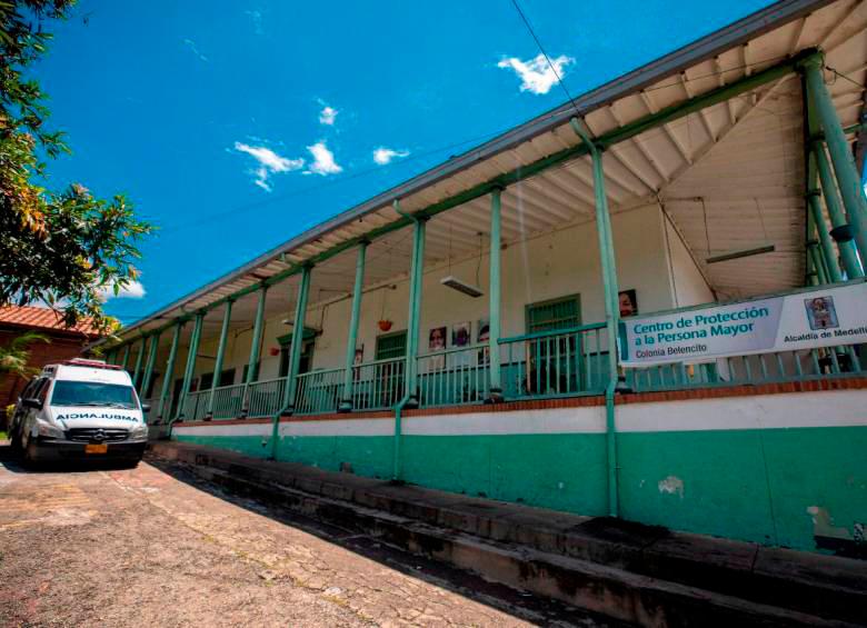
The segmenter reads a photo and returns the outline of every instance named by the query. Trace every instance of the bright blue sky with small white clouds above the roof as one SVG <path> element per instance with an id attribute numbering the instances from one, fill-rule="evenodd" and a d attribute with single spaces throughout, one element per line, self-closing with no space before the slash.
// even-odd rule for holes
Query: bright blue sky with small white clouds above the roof
<path id="1" fill-rule="evenodd" d="M 572 96 L 767 3 L 521 0 Z M 566 100 L 510 0 L 81 0 L 52 29 L 50 185 L 160 228 L 126 325 Z"/>

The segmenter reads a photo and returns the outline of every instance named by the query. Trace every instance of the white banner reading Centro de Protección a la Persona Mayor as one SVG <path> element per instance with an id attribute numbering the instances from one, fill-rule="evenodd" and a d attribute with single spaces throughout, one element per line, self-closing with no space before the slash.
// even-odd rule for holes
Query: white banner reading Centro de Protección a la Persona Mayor
<path id="1" fill-rule="evenodd" d="M 867 342 L 867 283 L 620 322 L 625 367 Z"/>

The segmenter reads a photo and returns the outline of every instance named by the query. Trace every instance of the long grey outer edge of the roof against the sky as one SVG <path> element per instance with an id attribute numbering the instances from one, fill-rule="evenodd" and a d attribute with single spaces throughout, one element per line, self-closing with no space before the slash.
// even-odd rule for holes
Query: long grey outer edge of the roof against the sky
<path id="1" fill-rule="evenodd" d="M 608 81 L 607 83 L 579 96 L 575 99 L 575 104 L 578 111 L 575 110 L 571 102 L 560 104 L 559 107 L 556 107 L 555 109 L 551 109 L 550 111 L 542 113 L 541 116 L 538 116 L 532 120 L 529 120 L 492 140 L 472 148 L 458 157 L 451 158 L 440 166 L 431 168 L 430 170 L 422 172 L 421 175 L 418 175 L 412 179 L 400 183 L 399 186 L 396 186 L 360 205 L 357 205 L 353 208 L 329 218 L 312 229 L 308 229 L 307 231 L 299 233 L 285 243 L 266 251 L 261 256 L 236 268 L 235 270 L 220 276 L 213 281 L 206 283 L 189 295 L 172 301 L 168 306 L 155 311 L 152 315 L 138 320 L 133 325 L 121 330 L 119 333 L 126 335 L 129 331 L 133 331 L 139 327 L 147 325 L 153 319 L 162 318 L 171 310 L 182 308 L 186 303 L 193 301 L 203 295 L 207 295 L 219 286 L 233 281 L 235 279 L 250 272 L 251 270 L 276 259 L 280 253 L 288 252 L 292 249 L 301 247 L 320 237 L 322 233 L 361 218 L 366 213 L 375 211 L 376 209 L 381 208 L 383 205 L 390 203 L 395 199 L 400 199 L 401 197 L 413 193 L 421 188 L 460 172 L 461 170 L 472 166 L 476 161 L 490 158 L 499 152 L 509 150 L 510 148 L 522 143 L 532 137 L 549 131 L 552 128 L 562 124 L 576 113 L 587 114 L 590 111 L 604 107 L 618 98 L 622 98 L 649 84 L 658 82 L 661 79 L 674 76 L 685 70 L 686 68 L 689 68 L 690 66 L 695 66 L 696 63 L 711 59 L 735 46 L 739 46 L 771 29 L 779 28 L 827 4 L 831 4 L 835 1 L 836 0 L 780 0 L 779 2 L 775 2 L 769 7 L 750 13 L 749 16 L 733 22 L 727 27 L 716 30 L 710 34 L 694 41 L 692 43 L 688 43 L 687 46 L 678 48 L 674 52 L 669 52 L 668 54 L 660 57 L 650 63 L 646 63 L 645 66 L 632 70 L 631 72 L 627 72 L 617 79 Z M 104 342 L 104 340 L 99 340 L 92 346 L 98 346 L 102 342 Z"/>

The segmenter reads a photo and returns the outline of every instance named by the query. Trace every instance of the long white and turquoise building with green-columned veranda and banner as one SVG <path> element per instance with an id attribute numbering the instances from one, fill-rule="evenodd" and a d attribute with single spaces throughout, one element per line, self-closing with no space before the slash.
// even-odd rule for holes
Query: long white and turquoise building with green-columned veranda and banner
<path id="1" fill-rule="evenodd" d="M 865 50 L 867 3 L 778 2 L 99 350 L 179 440 L 851 551 Z"/>

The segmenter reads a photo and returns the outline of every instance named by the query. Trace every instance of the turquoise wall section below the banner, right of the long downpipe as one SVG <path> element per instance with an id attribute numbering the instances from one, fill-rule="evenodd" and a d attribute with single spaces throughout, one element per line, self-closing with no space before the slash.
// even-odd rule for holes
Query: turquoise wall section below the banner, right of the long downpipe
<path id="1" fill-rule="evenodd" d="M 867 522 L 867 427 L 621 433 L 619 460 L 627 519 L 799 549 L 816 548 L 810 507 Z"/>

